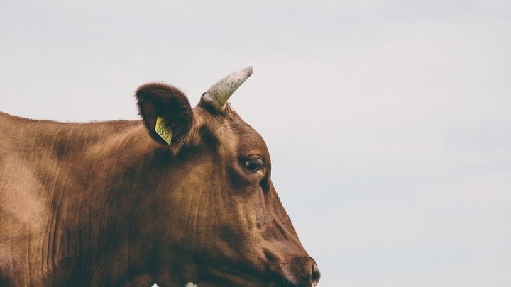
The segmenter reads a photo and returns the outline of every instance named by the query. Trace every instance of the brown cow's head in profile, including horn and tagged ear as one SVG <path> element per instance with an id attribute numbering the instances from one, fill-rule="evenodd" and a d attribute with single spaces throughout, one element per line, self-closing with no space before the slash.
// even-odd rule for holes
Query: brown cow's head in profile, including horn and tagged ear
<path id="1" fill-rule="evenodd" d="M 147 228 L 155 230 L 150 244 L 159 286 L 319 281 L 273 187 L 263 138 L 226 103 L 251 74 L 248 67 L 224 77 L 195 108 L 173 86 L 146 84 L 137 91 L 158 143 L 148 173 L 158 184 L 148 187 L 154 196 Z"/>

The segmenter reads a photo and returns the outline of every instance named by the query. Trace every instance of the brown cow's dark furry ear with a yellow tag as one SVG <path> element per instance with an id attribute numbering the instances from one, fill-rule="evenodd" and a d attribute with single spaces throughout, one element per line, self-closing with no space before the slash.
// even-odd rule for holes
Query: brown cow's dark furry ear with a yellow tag
<path id="1" fill-rule="evenodd" d="M 145 84 L 136 91 L 138 110 L 154 140 L 177 153 L 192 135 L 192 107 L 174 86 Z"/>

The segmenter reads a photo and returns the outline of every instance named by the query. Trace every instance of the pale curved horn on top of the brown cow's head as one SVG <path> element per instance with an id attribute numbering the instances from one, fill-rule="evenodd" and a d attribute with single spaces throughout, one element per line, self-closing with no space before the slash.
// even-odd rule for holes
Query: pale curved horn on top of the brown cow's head
<path id="1" fill-rule="evenodd" d="M 220 79 L 202 95 L 201 103 L 208 103 L 216 111 L 224 111 L 229 97 L 251 76 L 252 72 L 252 66 L 246 67 Z"/>

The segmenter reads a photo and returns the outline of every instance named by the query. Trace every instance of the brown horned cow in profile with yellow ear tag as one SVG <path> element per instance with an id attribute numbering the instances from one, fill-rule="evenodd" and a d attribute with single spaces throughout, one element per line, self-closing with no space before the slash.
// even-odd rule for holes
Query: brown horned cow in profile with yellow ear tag
<path id="1" fill-rule="evenodd" d="M 316 286 L 268 148 L 227 103 L 252 72 L 195 108 L 144 84 L 141 120 L 0 113 L 0 286 Z"/>

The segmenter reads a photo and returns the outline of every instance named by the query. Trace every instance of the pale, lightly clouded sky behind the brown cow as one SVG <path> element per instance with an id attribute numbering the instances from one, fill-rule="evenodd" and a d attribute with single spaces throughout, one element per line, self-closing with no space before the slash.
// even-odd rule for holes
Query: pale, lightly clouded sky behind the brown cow
<path id="1" fill-rule="evenodd" d="M 511 286 L 511 2 L 0 1 L 0 111 L 231 98 L 329 286 Z"/>

